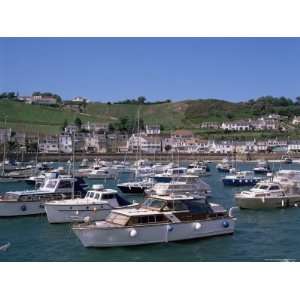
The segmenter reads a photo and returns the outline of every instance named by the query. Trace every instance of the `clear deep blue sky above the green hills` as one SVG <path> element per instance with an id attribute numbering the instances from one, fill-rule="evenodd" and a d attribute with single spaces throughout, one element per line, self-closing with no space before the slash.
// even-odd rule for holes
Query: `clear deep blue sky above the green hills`
<path id="1" fill-rule="evenodd" d="M 0 91 L 117 101 L 300 95 L 300 38 L 0 38 Z"/>

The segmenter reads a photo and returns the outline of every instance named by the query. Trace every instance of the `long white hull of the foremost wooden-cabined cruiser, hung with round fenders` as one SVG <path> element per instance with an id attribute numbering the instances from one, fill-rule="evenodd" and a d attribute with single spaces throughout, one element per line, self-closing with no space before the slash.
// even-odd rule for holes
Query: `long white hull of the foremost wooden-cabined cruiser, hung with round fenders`
<path id="1" fill-rule="evenodd" d="M 217 220 L 121 228 L 80 227 L 77 225 L 73 227 L 73 231 L 85 247 L 119 247 L 232 234 L 234 232 L 234 220 L 228 217 Z"/>

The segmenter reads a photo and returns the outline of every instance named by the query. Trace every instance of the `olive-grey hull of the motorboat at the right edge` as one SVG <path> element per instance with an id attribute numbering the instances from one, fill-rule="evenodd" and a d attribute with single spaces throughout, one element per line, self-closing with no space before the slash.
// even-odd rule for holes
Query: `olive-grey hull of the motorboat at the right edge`
<path id="1" fill-rule="evenodd" d="M 300 206 L 300 196 L 235 197 L 236 204 L 245 209 L 286 208 Z"/>

